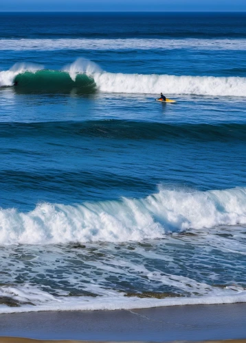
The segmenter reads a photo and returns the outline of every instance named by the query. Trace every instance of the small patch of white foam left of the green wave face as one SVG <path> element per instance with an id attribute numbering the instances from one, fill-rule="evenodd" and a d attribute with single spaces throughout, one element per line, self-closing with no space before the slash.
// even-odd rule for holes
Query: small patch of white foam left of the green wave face
<path id="1" fill-rule="evenodd" d="M 17 75 L 30 71 L 35 73 L 38 70 L 43 69 L 43 66 L 32 63 L 16 63 L 7 71 L 0 71 L 0 87 L 12 86 L 14 84 L 14 78 Z"/>

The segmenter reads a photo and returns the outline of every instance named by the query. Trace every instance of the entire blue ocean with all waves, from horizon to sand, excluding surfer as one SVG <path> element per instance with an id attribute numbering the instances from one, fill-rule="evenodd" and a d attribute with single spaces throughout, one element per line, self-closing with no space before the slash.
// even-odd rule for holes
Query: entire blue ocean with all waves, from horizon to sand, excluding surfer
<path id="1" fill-rule="evenodd" d="M 245 19 L 0 14 L 1 313 L 246 301 Z"/>

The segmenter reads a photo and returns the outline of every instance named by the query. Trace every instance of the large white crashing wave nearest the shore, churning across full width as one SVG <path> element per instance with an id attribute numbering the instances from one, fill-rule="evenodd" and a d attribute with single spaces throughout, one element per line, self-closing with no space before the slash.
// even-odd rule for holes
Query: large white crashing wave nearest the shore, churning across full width
<path id="1" fill-rule="evenodd" d="M 34 211 L 0 211 L 0 244 L 142 241 L 190 228 L 246 224 L 246 188 L 160 189 L 143 199 L 80 205 L 39 204 Z"/>

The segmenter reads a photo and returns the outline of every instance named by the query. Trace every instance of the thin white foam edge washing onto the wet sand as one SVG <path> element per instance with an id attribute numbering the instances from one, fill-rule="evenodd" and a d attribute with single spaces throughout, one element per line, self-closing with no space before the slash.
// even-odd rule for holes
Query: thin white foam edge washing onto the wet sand
<path id="1" fill-rule="evenodd" d="M 179 298 L 128 298 L 123 293 L 111 291 L 109 296 L 59 296 L 55 297 L 35 287 L 19 286 L 0 288 L 0 296 L 8 296 L 16 301 L 31 302 L 34 305 L 23 304 L 20 307 L 0 305 L 0 314 L 31 312 L 31 311 L 85 311 L 85 310 L 116 310 L 140 309 L 177 305 L 210 305 L 246 303 L 246 292 L 238 289 L 225 289 L 223 294 L 211 296 L 192 296 Z"/>

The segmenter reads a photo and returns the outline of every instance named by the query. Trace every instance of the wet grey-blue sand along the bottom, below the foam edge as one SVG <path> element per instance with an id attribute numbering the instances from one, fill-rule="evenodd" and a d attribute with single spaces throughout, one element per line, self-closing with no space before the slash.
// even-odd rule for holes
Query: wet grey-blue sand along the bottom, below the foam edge
<path id="1" fill-rule="evenodd" d="M 1 314 L 0 342 L 27 342 L 16 338 L 84 342 L 243 340 L 245 310 L 245 303 L 237 303 Z"/>

